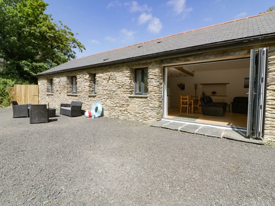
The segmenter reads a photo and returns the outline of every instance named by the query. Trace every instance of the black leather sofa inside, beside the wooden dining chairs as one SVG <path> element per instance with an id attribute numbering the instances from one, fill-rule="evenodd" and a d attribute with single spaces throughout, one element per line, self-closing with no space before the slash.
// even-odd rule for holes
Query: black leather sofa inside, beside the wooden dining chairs
<path id="1" fill-rule="evenodd" d="M 227 106 L 228 103 L 226 102 L 213 102 L 210 96 L 201 97 L 201 112 L 203 115 L 222 117 Z"/>

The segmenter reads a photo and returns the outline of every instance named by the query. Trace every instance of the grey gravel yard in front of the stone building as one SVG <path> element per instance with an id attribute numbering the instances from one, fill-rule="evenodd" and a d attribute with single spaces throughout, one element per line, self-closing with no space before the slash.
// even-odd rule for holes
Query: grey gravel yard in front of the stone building
<path id="1" fill-rule="evenodd" d="M 0 126 L 0 205 L 275 205 L 272 146 L 12 108 Z"/>

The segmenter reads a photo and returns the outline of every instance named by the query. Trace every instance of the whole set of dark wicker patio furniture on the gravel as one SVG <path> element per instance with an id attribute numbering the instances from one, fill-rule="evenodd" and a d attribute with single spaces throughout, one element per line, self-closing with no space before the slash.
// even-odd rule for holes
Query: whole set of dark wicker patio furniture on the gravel
<path id="1" fill-rule="evenodd" d="M 61 104 L 61 115 L 77 117 L 82 115 L 82 102 L 72 102 L 71 104 Z M 56 108 L 48 108 L 47 104 L 18 104 L 12 101 L 13 118 L 30 117 L 30 124 L 47 123 L 50 117 L 56 116 Z"/>

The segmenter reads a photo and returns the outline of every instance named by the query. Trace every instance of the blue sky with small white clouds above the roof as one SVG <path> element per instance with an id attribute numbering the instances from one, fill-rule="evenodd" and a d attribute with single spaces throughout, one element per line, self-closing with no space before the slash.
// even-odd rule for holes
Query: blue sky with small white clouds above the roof
<path id="1" fill-rule="evenodd" d="M 266 12 L 275 0 L 44 0 L 85 45 L 78 58 Z"/>

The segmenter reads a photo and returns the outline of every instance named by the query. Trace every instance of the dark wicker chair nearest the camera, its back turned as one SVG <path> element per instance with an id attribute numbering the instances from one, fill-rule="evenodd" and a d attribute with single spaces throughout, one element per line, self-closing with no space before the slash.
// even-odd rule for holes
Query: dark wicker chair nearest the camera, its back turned
<path id="1" fill-rule="evenodd" d="M 49 122 L 47 104 L 32 104 L 30 106 L 30 124 Z"/>

